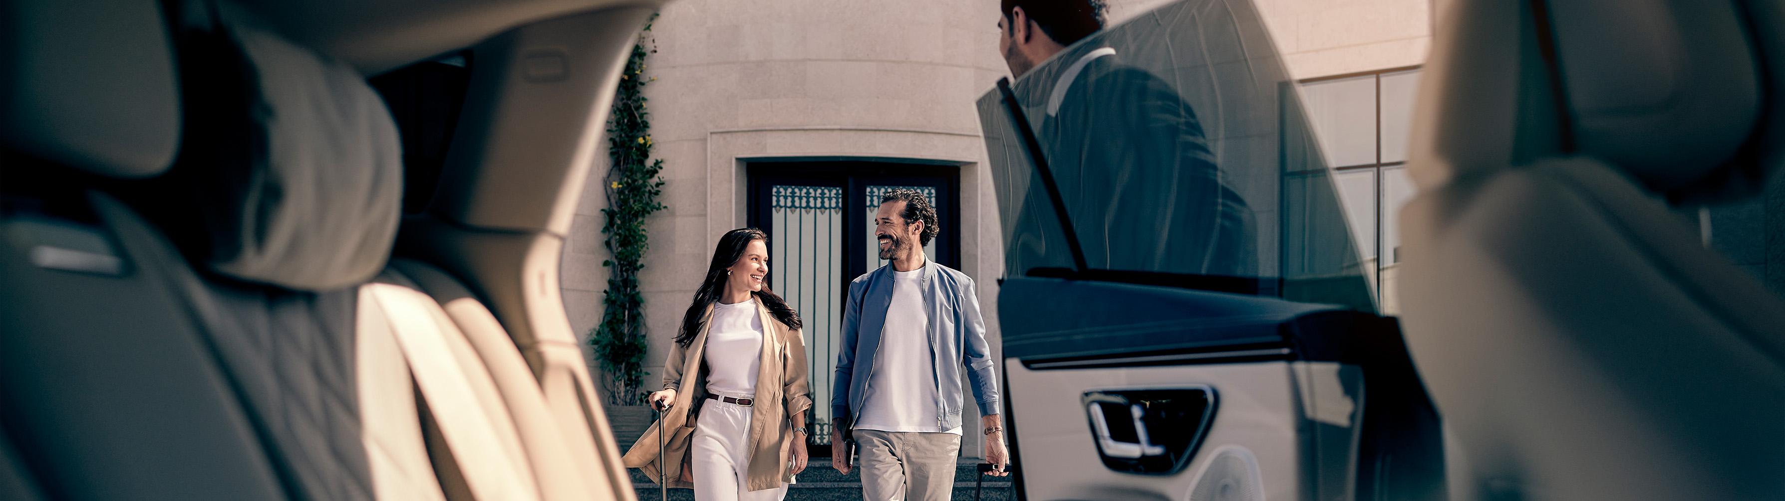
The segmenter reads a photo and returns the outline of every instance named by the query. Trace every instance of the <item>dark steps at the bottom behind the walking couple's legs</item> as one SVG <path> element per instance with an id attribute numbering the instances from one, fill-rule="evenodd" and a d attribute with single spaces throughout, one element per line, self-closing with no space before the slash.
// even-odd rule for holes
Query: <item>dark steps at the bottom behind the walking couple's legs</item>
<path id="1" fill-rule="evenodd" d="M 955 464 L 955 496 L 953 501 L 973 501 L 973 481 L 978 476 L 975 465 L 980 458 L 960 458 Z M 657 480 L 644 478 L 637 469 L 627 469 L 632 474 L 632 487 L 639 494 L 639 501 L 657 501 Z M 860 501 L 862 499 L 862 476 L 860 471 L 851 471 L 850 474 L 841 474 L 830 467 L 828 458 L 812 458 L 805 472 L 798 474 L 800 483 L 789 485 L 787 501 Z M 1009 476 L 985 476 L 984 494 L 978 499 L 984 501 L 1010 501 L 1016 496 L 1010 492 Z M 675 501 L 694 501 L 693 489 L 669 489 L 669 499 Z"/>

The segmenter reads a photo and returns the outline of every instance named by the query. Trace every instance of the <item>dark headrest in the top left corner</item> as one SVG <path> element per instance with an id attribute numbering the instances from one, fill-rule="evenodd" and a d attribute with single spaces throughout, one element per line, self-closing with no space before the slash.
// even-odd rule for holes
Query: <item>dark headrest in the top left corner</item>
<path id="1" fill-rule="evenodd" d="M 0 143 L 96 175 L 173 162 L 180 102 L 155 0 L 0 2 Z"/>

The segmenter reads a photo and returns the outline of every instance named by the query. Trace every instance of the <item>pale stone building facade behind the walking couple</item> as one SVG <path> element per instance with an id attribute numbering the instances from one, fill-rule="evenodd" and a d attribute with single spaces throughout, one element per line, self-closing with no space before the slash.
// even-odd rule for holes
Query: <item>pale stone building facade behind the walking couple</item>
<path id="1" fill-rule="evenodd" d="M 1123 21 L 1160 4 L 1116 0 L 1110 18 Z M 1428 0 L 1262 0 L 1258 9 L 1294 78 L 1417 66 L 1430 45 Z M 830 349 L 814 339 L 826 335 L 825 324 L 834 330 L 835 321 L 821 312 L 834 303 L 819 301 L 835 289 L 798 289 L 835 285 L 878 266 L 859 255 L 866 241 L 851 235 L 862 226 L 850 218 L 866 209 L 851 205 L 884 185 L 941 194 L 950 216 L 932 253 L 978 282 L 998 346 L 1003 242 L 973 107 L 1009 77 L 998 18 L 996 0 L 678 0 L 662 11 L 646 68 L 657 80 L 646 96 L 668 209 L 648 223 L 652 250 L 641 276 L 646 387 L 655 385 L 714 242 L 751 223 L 782 226 L 771 230 L 787 241 L 771 248 L 771 267 L 789 275 L 771 283 L 791 300 L 807 296 L 796 301 L 812 324 L 807 342 Z M 578 332 L 602 316 L 602 189 L 600 177 L 591 177 L 562 259 L 564 301 Z M 816 248 L 800 232 L 862 244 Z M 818 385 L 823 380 L 814 374 Z M 978 435 L 967 437 L 962 455 L 975 456 L 980 444 L 971 437 Z"/>

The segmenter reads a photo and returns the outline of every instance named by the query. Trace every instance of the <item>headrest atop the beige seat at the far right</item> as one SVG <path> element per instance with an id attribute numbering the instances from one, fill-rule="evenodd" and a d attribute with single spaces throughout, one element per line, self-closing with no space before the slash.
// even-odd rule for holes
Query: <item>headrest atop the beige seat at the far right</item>
<path id="1" fill-rule="evenodd" d="M 1762 73 L 1730 2 L 1553 0 L 1580 153 L 1660 193 L 1699 189 L 1762 119 Z"/>

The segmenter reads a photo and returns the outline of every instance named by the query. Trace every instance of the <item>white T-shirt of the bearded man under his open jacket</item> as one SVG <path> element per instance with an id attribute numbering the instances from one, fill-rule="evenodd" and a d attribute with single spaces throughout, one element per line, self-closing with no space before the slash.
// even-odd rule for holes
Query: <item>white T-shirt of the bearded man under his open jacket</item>
<path id="1" fill-rule="evenodd" d="M 928 321 L 923 307 L 923 267 L 892 271 L 892 305 L 880 332 L 880 351 L 868 378 L 857 430 L 955 433 L 942 430 L 942 412 L 935 401 L 935 364 L 932 362 Z"/>

